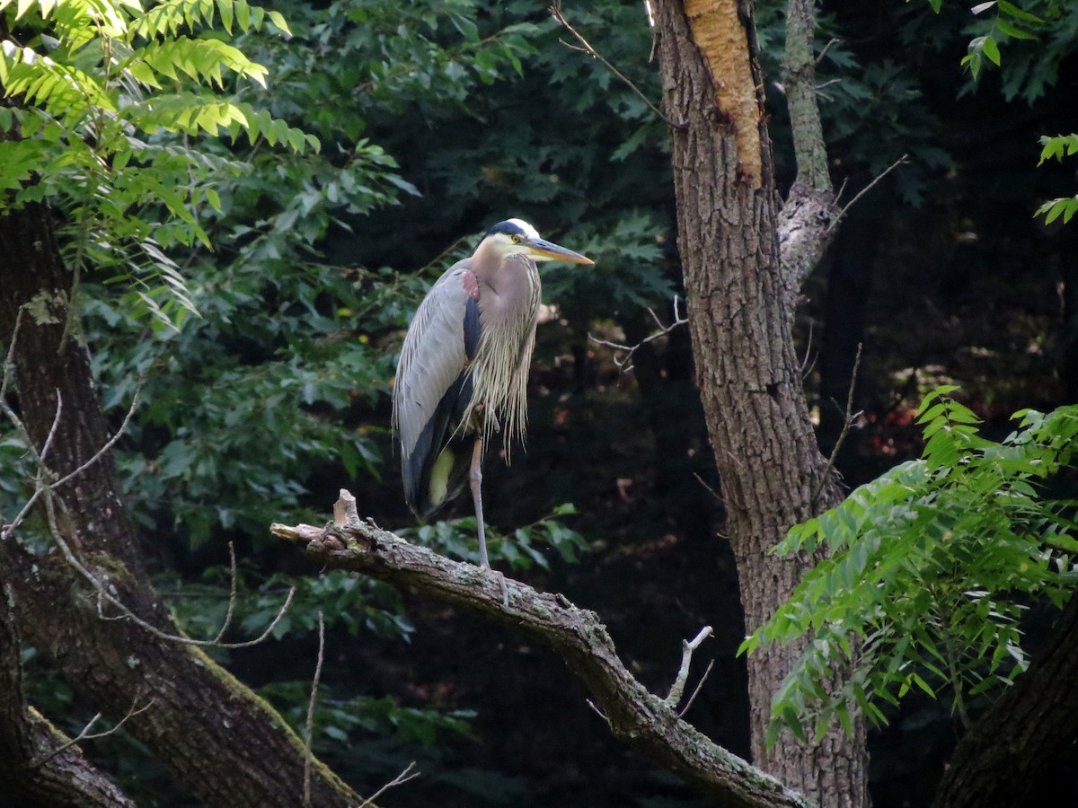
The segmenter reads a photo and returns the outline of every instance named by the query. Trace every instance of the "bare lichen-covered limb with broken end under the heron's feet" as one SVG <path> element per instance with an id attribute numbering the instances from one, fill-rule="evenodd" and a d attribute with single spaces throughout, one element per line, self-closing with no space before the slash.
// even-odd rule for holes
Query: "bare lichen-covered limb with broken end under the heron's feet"
<path id="1" fill-rule="evenodd" d="M 342 491 L 342 498 L 350 494 Z M 338 513 L 347 512 L 338 507 Z M 674 707 L 645 689 L 622 665 L 598 615 L 563 596 L 506 579 L 506 607 L 500 574 L 409 544 L 370 519 L 349 516 L 326 528 L 275 524 L 270 530 L 302 545 L 307 557 L 324 569 L 350 570 L 407 586 L 551 647 L 588 688 L 616 737 L 630 741 L 718 804 L 811 805 L 679 720 Z"/>

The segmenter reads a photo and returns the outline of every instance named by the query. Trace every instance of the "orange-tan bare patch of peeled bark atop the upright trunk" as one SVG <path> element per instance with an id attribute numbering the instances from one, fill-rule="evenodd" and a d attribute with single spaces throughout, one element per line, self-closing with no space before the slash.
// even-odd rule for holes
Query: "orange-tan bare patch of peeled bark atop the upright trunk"
<path id="1" fill-rule="evenodd" d="M 737 161 L 742 171 L 760 187 L 763 161 L 760 156 L 760 107 L 748 34 L 737 13 L 736 0 L 686 0 L 686 17 L 692 38 L 704 57 L 715 85 L 715 102 L 734 125 Z"/>

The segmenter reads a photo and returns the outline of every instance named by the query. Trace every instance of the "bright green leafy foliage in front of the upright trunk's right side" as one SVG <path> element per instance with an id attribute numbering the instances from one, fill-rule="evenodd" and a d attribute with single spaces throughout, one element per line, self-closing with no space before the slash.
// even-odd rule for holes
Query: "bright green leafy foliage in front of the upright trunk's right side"
<path id="1" fill-rule="evenodd" d="M 1048 480 L 1074 464 L 1078 406 L 1019 413 L 1001 442 L 941 387 L 923 402 L 921 460 L 857 488 L 839 506 L 793 527 L 777 553 L 830 555 L 742 645 L 808 635 L 812 642 L 773 703 L 769 739 L 783 727 L 817 737 L 831 720 L 862 711 L 885 723 L 882 703 L 917 688 L 965 701 L 1025 669 L 1021 617 L 1033 598 L 1062 605 L 1078 575 L 1072 503 Z M 835 669 L 843 682 L 826 683 Z"/>

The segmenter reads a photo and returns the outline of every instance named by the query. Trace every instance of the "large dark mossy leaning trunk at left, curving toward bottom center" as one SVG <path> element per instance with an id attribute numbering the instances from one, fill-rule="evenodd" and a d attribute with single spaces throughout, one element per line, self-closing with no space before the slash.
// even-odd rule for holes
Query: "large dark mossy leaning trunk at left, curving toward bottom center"
<path id="1" fill-rule="evenodd" d="M 18 403 L 41 451 L 58 474 L 79 469 L 108 440 L 108 424 L 78 334 L 65 334 L 71 277 L 63 266 L 49 212 L 29 206 L 0 214 L 0 334 L 14 346 Z M 135 614 L 176 633 L 168 610 L 142 574 L 138 538 L 126 517 L 111 459 L 61 487 L 59 530 L 98 580 Z M 57 553 L 32 555 L 15 538 L 0 541 L 0 570 L 15 597 L 26 640 L 47 654 L 92 703 L 113 719 L 134 702 L 153 706 L 127 728 L 208 806 L 294 808 L 302 800 L 304 750 L 258 696 L 191 645 L 158 639 L 128 621 L 102 619 L 94 587 Z M 359 797 L 317 761 L 318 806 L 355 806 Z"/>

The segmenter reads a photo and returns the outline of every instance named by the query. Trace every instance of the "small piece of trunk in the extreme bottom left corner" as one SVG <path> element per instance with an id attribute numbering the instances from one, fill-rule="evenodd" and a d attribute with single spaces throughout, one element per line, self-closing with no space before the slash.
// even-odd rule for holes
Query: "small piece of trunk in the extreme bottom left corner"
<path id="1" fill-rule="evenodd" d="M 134 808 L 23 693 L 14 610 L 0 594 L 0 804 L 25 808 Z"/>

